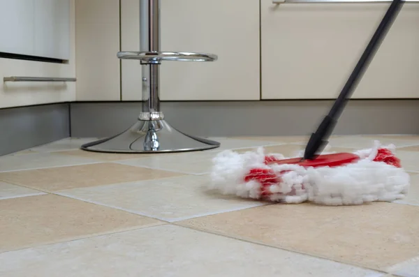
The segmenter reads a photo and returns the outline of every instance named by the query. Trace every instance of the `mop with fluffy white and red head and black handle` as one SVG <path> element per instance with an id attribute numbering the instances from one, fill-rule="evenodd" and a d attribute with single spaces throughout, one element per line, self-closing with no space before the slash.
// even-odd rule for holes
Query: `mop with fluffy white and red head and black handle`
<path id="1" fill-rule="evenodd" d="M 210 188 L 243 198 L 295 204 L 309 201 L 332 206 L 404 198 L 410 177 L 395 156 L 394 145 L 382 146 L 376 141 L 372 148 L 354 153 L 324 151 L 341 111 L 400 8 L 402 0 L 393 0 L 302 155 L 291 158 L 266 155 L 263 148 L 244 154 L 222 151 L 213 159 Z"/>

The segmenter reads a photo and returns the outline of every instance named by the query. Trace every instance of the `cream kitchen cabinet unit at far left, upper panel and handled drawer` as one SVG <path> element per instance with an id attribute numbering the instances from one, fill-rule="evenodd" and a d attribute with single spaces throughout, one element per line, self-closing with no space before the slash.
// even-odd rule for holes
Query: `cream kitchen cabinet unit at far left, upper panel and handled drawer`
<path id="1" fill-rule="evenodd" d="M 0 108 L 75 100 L 74 82 L 3 82 L 12 76 L 75 77 L 74 14 L 73 0 L 0 0 L 0 52 L 64 60 L 0 57 Z"/>

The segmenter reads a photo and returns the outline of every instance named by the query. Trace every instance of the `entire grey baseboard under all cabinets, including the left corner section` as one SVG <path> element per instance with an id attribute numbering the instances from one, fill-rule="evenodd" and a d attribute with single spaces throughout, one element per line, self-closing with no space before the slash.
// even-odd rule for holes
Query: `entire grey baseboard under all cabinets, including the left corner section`
<path id="1" fill-rule="evenodd" d="M 163 102 L 166 120 L 190 135 L 307 135 L 332 101 Z M 135 123 L 140 103 L 59 103 L 0 110 L 0 156 L 73 137 L 115 135 Z M 337 135 L 419 134 L 419 99 L 351 100 Z"/>

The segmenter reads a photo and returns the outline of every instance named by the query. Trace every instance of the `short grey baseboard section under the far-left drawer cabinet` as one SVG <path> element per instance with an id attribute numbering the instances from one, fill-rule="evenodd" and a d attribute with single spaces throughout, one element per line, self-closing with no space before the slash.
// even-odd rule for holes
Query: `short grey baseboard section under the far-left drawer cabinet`
<path id="1" fill-rule="evenodd" d="M 0 110 L 0 156 L 69 135 L 68 103 Z"/>

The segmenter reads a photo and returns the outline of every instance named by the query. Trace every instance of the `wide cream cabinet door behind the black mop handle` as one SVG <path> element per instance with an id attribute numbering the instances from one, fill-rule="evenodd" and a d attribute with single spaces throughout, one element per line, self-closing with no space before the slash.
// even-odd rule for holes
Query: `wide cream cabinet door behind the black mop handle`
<path id="1" fill-rule="evenodd" d="M 261 1 L 263 99 L 336 98 L 390 5 Z M 419 98 L 418 27 L 405 3 L 353 98 Z"/>

